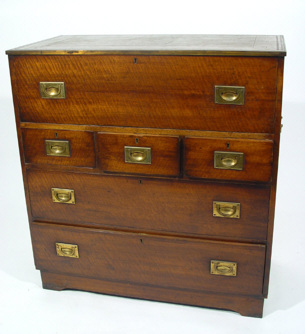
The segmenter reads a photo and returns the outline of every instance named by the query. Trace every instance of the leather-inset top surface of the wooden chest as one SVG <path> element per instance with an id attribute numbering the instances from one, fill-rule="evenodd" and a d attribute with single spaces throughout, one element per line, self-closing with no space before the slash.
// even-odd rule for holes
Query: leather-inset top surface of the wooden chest
<path id="1" fill-rule="evenodd" d="M 285 56 L 282 35 L 60 35 L 6 54 L 180 54 Z"/>

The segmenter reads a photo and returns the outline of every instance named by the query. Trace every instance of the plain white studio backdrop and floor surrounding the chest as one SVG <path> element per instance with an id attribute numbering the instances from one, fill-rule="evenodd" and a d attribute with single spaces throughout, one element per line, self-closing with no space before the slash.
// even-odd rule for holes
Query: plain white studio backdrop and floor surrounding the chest
<path id="1" fill-rule="evenodd" d="M 305 1 L 0 1 L 0 332 L 302 333 Z M 283 129 L 269 296 L 262 319 L 41 288 L 34 269 L 5 49 L 61 34 L 283 34 Z"/>

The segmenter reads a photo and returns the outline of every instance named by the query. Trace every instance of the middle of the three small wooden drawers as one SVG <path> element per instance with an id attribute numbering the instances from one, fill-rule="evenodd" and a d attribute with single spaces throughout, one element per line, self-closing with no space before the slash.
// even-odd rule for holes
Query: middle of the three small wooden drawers
<path id="1" fill-rule="evenodd" d="M 179 174 L 179 137 L 99 132 L 99 168 L 105 172 Z"/>

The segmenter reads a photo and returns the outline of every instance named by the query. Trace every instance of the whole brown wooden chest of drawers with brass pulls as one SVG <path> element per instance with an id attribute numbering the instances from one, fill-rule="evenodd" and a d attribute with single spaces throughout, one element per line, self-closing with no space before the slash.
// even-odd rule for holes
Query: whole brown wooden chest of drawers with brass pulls
<path id="1" fill-rule="evenodd" d="M 6 51 L 44 288 L 262 316 L 282 36 L 58 36 Z"/>

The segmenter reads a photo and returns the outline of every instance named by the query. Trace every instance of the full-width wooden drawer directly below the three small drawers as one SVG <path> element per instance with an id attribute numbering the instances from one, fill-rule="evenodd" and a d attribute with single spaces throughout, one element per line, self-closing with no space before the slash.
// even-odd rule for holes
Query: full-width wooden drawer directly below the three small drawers
<path id="1" fill-rule="evenodd" d="M 266 239 L 268 186 L 37 169 L 27 170 L 27 180 L 35 218 Z M 230 216 L 234 203 L 240 213 Z"/>

